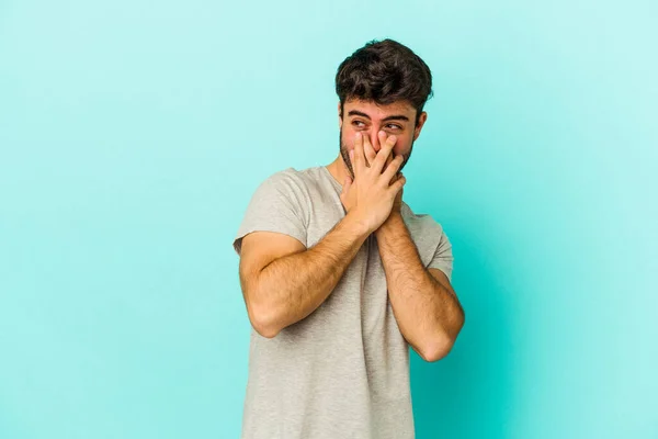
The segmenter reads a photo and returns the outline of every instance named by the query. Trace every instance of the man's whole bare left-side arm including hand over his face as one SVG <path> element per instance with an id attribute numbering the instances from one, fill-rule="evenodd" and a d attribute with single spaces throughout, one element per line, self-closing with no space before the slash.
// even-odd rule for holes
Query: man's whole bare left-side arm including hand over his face
<path id="1" fill-rule="evenodd" d="M 387 217 L 404 178 L 394 180 L 401 156 L 387 164 L 394 142 L 366 167 L 364 142 L 355 144 L 354 184 L 343 187 L 348 212 L 311 248 L 285 234 L 253 232 L 242 239 L 240 282 L 249 318 L 263 337 L 275 337 L 315 311 L 336 288 L 365 241 Z M 384 170 L 384 167 L 386 169 Z M 349 190 L 349 195 L 348 195 Z"/>

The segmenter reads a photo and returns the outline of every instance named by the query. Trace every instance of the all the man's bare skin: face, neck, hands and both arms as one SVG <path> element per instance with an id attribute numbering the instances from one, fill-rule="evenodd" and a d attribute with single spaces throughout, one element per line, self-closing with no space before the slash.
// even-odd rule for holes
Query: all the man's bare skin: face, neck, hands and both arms
<path id="1" fill-rule="evenodd" d="M 446 275 L 423 267 L 399 211 L 406 179 L 398 171 L 427 114 L 413 126 L 416 110 L 406 102 L 352 100 L 344 111 L 343 116 L 339 104 L 340 153 L 327 169 L 342 182 L 347 214 L 311 248 L 284 234 L 254 232 L 243 238 L 240 282 L 249 318 L 260 335 L 272 338 L 308 316 L 374 234 L 400 331 L 421 358 L 436 361 L 452 348 L 464 313 Z M 390 116 L 402 120 L 386 120 Z"/>

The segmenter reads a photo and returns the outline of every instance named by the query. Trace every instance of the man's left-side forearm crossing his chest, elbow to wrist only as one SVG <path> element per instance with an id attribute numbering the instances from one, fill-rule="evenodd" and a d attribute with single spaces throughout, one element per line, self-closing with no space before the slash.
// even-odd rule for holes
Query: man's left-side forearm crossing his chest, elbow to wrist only
<path id="1" fill-rule="evenodd" d="M 354 215 L 348 214 L 314 247 L 279 258 L 259 273 L 257 296 L 272 337 L 320 306 L 368 234 Z"/>

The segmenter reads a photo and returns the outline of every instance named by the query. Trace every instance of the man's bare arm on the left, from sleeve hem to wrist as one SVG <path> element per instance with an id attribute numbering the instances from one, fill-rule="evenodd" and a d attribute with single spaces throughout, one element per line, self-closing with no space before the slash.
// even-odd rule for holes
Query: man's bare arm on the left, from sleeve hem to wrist
<path id="1" fill-rule="evenodd" d="M 370 235 L 355 214 L 348 214 L 308 250 L 270 258 L 257 234 L 247 235 L 240 258 L 240 282 L 254 329 L 272 338 L 313 313 L 331 293 Z M 265 244 L 266 246 L 266 244 Z M 264 262 L 264 263 L 263 263 Z"/>

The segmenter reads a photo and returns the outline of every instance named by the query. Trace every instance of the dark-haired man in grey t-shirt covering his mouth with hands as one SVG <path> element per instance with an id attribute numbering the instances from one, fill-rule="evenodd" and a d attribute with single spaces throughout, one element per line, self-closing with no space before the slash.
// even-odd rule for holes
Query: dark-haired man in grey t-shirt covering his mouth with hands
<path id="1" fill-rule="evenodd" d="M 413 438 L 409 346 L 436 361 L 464 324 L 452 245 L 401 200 L 431 81 L 408 47 L 367 43 L 336 76 L 337 159 L 253 194 L 234 241 L 252 325 L 242 438 Z"/>

